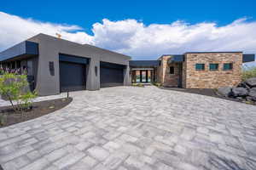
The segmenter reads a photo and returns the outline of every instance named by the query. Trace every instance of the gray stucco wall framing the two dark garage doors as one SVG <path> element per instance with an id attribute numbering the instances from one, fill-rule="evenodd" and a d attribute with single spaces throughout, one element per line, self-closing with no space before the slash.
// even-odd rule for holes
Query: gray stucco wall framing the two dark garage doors
<path id="1" fill-rule="evenodd" d="M 125 69 L 124 85 L 129 85 L 129 56 L 117 54 L 102 48 L 90 45 L 82 45 L 76 42 L 50 37 L 44 34 L 28 39 L 28 41 L 38 42 L 38 71 L 36 89 L 39 95 L 51 95 L 60 93 L 60 72 L 59 54 L 70 54 L 90 59 L 87 65 L 86 89 L 100 89 L 100 61 L 127 65 Z M 49 73 L 49 61 L 55 65 L 55 76 Z M 95 66 L 98 69 L 95 75 Z"/>

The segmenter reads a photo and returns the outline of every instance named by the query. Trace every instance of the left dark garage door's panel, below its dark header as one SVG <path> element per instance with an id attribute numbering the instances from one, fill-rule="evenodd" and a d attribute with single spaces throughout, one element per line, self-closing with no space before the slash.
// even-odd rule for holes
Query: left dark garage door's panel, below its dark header
<path id="1" fill-rule="evenodd" d="M 60 61 L 61 92 L 84 90 L 86 88 L 86 65 Z"/>

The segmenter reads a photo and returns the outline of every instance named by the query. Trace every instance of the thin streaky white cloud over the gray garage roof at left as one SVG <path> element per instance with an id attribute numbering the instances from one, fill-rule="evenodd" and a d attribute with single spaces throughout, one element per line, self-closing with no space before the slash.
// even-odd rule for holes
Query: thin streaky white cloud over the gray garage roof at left
<path id="1" fill-rule="evenodd" d="M 19 16 L 0 12 L 0 50 L 9 48 L 15 43 L 24 41 L 38 33 L 55 36 L 56 32 L 61 33 L 63 38 L 70 41 L 92 43 L 92 37 L 86 34 L 79 26 L 23 19 Z"/>

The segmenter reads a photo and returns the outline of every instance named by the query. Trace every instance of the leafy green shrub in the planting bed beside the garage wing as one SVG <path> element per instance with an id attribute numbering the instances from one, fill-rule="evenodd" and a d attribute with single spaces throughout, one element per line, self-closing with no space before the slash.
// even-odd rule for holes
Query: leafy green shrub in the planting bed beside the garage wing
<path id="1" fill-rule="evenodd" d="M 26 74 L 4 71 L 0 76 L 0 94 L 9 100 L 14 111 L 22 112 L 31 107 L 32 99 L 37 97 L 35 92 L 29 90 L 28 85 Z"/>

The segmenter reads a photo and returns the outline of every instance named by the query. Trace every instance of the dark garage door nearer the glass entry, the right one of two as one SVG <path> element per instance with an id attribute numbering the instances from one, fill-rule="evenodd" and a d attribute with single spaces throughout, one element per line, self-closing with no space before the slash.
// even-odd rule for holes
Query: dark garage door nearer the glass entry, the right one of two
<path id="1" fill-rule="evenodd" d="M 101 62 L 101 88 L 124 85 L 124 65 Z"/>

